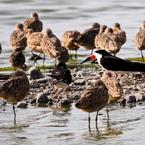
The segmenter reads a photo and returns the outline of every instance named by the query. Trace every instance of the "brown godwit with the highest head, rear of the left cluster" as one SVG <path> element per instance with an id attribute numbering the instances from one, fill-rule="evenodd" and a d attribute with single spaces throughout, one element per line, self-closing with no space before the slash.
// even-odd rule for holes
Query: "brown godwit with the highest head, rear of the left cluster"
<path id="1" fill-rule="evenodd" d="M 33 32 L 41 32 L 43 29 L 43 23 L 39 19 L 37 12 L 33 12 L 31 17 L 24 21 L 24 31 L 27 33 L 28 29 L 32 29 Z"/>

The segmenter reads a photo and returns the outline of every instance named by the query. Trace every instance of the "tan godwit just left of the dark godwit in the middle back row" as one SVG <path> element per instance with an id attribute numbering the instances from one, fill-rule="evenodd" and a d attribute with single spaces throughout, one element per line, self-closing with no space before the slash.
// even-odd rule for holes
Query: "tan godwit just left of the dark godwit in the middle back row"
<path id="1" fill-rule="evenodd" d="M 66 31 L 62 35 L 62 46 L 70 51 L 70 56 L 72 58 L 71 50 L 75 50 L 75 59 L 77 59 L 77 50 L 79 46 L 74 42 L 75 38 L 78 37 L 80 33 L 78 31 Z"/>

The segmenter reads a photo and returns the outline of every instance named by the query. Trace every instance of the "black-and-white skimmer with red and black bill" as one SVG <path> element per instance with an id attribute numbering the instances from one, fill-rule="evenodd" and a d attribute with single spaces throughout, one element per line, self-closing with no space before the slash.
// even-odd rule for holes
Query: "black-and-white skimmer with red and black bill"
<path id="1" fill-rule="evenodd" d="M 145 64 L 132 62 L 113 56 L 105 50 L 97 50 L 92 55 L 83 60 L 80 64 L 87 61 L 97 61 L 104 70 L 110 71 L 130 71 L 145 72 Z"/>

